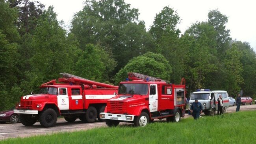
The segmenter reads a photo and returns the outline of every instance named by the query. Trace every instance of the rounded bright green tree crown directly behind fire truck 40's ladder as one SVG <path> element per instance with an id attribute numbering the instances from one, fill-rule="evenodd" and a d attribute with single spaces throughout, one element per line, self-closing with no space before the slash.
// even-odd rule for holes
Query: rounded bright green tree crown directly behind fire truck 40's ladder
<path id="1" fill-rule="evenodd" d="M 169 80 L 171 66 L 162 55 L 148 52 L 130 60 L 128 64 L 126 64 L 126 66 L 117 73 L 115 79 L 116 84 L 125 80 L 128 72 L 141 73 L 144 75 L 158 77 L 163 80 Z"/>

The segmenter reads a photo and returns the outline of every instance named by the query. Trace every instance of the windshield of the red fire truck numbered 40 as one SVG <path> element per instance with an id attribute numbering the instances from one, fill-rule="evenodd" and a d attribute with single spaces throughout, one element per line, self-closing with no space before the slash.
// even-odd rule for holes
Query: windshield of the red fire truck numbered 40
<path id="1" fill-rule="evenodd" d="M 147 95 L 148 85 L 147 84 L 120 84 L 118 93 Z"/>

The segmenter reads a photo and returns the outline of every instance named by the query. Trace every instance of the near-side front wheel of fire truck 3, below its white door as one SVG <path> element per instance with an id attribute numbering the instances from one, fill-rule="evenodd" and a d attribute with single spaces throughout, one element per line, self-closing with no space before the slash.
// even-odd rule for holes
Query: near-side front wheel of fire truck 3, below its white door
<path id="1" fill-rule="evenodd" d="M 39 115 L 39 122 L 41 126 L 44 126 L 45 128 L 52 127 L 57 122 L 57 113 L 52 108 L 45 109 L 40 115 Z"/>

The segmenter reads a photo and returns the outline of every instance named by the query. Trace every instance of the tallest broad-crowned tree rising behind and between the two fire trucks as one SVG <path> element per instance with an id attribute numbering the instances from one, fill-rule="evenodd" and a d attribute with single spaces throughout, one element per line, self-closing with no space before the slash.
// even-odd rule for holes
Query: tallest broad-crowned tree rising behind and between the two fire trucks
<path id="1" fill-rule="evenodd" d="M 117 60 L 113 76 L 128 60 L 155 47 L 138 15 L 138 9 L 124 0 L 86 0 L 83 10 L 73 16 L 70 31 L 82 50 L 87 44 L 110 49 Z"/>

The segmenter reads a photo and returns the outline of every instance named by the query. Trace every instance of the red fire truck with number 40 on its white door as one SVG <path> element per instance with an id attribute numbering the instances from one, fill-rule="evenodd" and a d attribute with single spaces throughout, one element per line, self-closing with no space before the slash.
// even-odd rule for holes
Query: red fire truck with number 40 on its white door
<path id="1" fill-rule="evenodd" d="M 146 126 L 154 119 L 178 122 L 184 117 L 184 78 L 179 85 L 139 73 L 128 73 L 128 78 L 120 83 L 118 95 L 108 100 L 105 111 L 100 113 L 108 126 L 117 126 L 119 122 Z"/>

